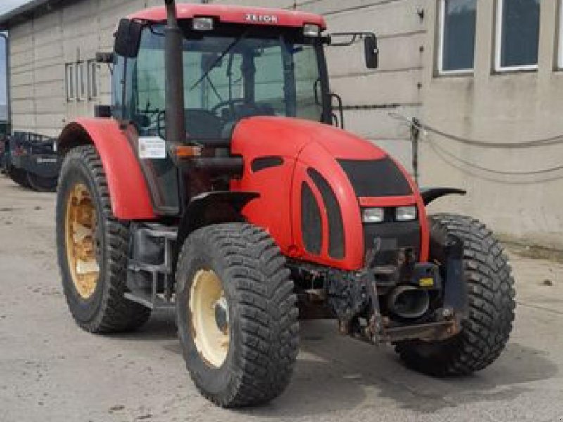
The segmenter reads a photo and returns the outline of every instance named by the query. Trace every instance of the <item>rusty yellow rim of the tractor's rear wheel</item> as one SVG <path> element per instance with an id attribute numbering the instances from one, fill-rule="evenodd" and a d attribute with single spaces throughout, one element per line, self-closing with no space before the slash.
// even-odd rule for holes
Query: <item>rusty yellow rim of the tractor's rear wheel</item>
<path id="1" fill-rule="evenodd" d="M 66 252 L 72 283 L 82 299 L 89 299 L 98 285 L 96 259 L 96 208 L 84 184 L 72 186 L 67 200 Z"/>

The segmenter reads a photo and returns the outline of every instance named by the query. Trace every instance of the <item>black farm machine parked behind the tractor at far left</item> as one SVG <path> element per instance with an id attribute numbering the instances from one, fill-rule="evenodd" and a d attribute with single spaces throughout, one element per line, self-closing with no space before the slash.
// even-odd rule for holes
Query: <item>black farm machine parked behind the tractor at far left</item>
<path id="1" fill-rule="evenodd" d="M 32 132 L 14 132 L 4 140 L 0 160 L 4 173 L 20 186 L 40 192 L 55 191 L 61 170 L 55 141 Z"/>

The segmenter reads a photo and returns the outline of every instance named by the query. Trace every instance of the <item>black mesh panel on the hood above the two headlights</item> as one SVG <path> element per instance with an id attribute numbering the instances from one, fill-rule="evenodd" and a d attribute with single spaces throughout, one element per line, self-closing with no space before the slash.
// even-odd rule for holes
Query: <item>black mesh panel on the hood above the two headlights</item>
<path id="1" fill-rule="evenodd" d="M 412 195 L 409 182 L 391 158 L 339 160 L 339 164 L 360 198 Z"/>

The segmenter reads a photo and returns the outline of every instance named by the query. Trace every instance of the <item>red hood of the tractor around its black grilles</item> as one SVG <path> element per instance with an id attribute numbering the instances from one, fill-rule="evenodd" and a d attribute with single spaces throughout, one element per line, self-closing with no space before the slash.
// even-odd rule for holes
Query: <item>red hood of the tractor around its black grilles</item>
<path id="1" fill-rule="evenodd" d="M 307 120 L 281 117 L 252 117 L 236 127 L 232 153 L 241 155 L 245 170 L 240 181 L 232 182 L 235 191 L 255 191 L 260 198 L 243 210 L 249 222 L 272 234 L 289 257 L 345 270 L 358 270 L 364 265 L 362 206 L 417 205 L 421 221 L 421 261 L 428 259 L 429 234 L 426 211 L 418 188 L 406 170 L 398 165 L 409 181 L 413 194 L 384 198 L 357 198 L 346 173 L 336 160 L 381 160 L 387 154 L 372 143 L 341 129 Z M 281 157 L 284 164 L 253 172 L 255 158 Z M 311 188 L 317 203 L 322 197 L 307 174 L 314 168 L 331 186 L 342 213 L 345 231 L 345 257 L 331 258 L 328 253 L 328 217 L 320 207 L 322 248 L 320 255 L 307 250 L 301 236 L 301 184 Z"/>

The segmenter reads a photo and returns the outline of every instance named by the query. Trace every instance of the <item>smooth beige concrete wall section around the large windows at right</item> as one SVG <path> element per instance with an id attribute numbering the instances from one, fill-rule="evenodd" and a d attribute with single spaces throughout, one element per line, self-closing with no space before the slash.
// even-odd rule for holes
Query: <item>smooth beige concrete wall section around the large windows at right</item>
<path id="1" fill-rule="evenodd" d="M 495 1 L 479 0 L 474 75 L 436 77 L 437 8 L 429 3 L 426 26 L 422 120 L 444 132 L 495 142 L 524 142 L 563 134 L 563 73 L 556 68 L 559 0 L 541 0 L 538 70 L 494 72 Z M 431 147 L 437 145 L 470 165 Z M 434 147 L 436 148 L 436 147 Z M 531 243 L 563 246 L 563 172 L 503 176 L 477 170 L 526 172 L 563 165 L 563 145 L 540 148 L 475 148 L 429 133 L 422 149 L 422 183 L 467 188 L 460 204 L 496 230 Z M 548 180 L 551 179 L 551 180 Z"/>

